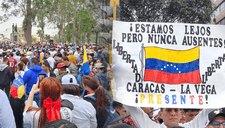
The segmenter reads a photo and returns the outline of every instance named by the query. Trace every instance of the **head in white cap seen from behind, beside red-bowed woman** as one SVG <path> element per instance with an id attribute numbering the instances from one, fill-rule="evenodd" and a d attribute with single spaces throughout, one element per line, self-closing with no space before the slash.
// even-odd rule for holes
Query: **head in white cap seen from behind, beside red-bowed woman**
<path id="1" fill-rule="evenodd" d="M 62 77 L 62 94 L 71 94 L 80 96 L 79 84 L 73 75 L 65 75 Z"/>

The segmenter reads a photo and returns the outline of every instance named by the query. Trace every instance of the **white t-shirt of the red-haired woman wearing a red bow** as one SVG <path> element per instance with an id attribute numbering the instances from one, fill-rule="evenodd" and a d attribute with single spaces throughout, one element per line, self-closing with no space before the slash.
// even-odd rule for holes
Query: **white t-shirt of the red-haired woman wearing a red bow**
<path id="1" fill-rule="evenodd" d="M 26 110 L 27 111 L 27 110 Z M 26 128 L 38 128 L 38 120 L 41 111 L 23 112 L 23 125 Z M 35 116 L 34 116 L 35 114 Z M 60 114 L 62 119 L 72 122 L 72 111 L 69 108 L 61 107 Z"/>

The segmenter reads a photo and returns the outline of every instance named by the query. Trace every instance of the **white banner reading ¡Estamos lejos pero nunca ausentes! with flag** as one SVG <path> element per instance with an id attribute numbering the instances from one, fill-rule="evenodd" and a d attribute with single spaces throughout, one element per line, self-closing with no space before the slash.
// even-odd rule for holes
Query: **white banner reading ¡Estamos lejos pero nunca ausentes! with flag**
<path id="1" fill-rule="evenodd" d="M 225 107 L 224 49 L 223 25 L 114 21 L 114 98 L 143 107 Z"/>

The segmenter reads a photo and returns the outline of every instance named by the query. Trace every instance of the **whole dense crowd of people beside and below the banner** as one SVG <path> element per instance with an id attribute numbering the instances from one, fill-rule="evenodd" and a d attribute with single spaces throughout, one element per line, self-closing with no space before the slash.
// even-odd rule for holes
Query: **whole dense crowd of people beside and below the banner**
<path id="1" fill-rule="evenodd" d="M 132 107 L 114 101 L 111 72 L 104 45 L 1 42 L 0 128 L 225 127 L 224 109 Z"/>

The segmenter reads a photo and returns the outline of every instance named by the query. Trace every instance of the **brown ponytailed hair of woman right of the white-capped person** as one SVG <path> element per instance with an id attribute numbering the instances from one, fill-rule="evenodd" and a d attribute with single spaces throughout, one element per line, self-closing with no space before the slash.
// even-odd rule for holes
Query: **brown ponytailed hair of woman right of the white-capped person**
<path id="1" fill-rule="evenodd" d="M 98 79 L 91 75 L 86 75 L 81 78 L 81 83 L 88 86 L 91 90 L 95 92 L 97 113 L 102 107 L 108 105 L 108 100 L 105 95 L 105 89 L 100 85 Z"/>

